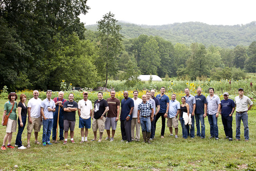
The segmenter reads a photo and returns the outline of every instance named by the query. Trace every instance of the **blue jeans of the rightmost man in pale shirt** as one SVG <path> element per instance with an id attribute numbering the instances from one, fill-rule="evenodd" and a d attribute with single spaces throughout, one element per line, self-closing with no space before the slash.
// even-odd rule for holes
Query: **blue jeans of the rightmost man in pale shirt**
<path id="1" fill-rule="evenodd" d="M 249 127 L 248 127 L 248 114 L 247 112 L 244 113 L 237 113 L 236 112 L 236 139 L 240 139 L 240 125 L 241 120 L 243 121 L 243 127 L 245 128 L 245 139 L 249 140 Z"/>

